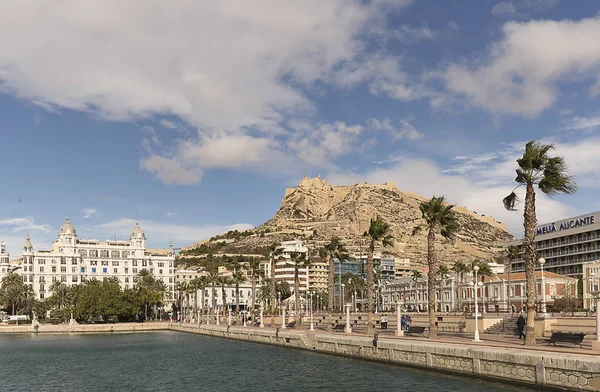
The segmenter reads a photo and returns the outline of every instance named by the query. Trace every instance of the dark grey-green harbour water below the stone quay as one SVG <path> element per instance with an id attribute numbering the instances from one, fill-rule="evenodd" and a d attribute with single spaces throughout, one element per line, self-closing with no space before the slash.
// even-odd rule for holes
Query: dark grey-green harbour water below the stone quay
<path id="1" fill-rule="evenodd" d="M 533 391 L 178 332 L 0 335 L 1 391 Z"/>

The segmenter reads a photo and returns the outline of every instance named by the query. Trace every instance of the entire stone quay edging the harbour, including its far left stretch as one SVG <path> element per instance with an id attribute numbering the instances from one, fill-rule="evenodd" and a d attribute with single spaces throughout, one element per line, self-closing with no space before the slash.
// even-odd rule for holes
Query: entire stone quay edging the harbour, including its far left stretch
<path id="1" fill-rule="evenodd" d="M 459 334 L 435 340 L 378 334 L 192 323 L 42 324 L 37 333 L 180 331 L 419 367 L 479 378 L 567 390 L 600 390 L 600 358 L 569 348 L 551 349 L 474 343 Z M 31 325 L 3 326 L 0 333 L 33 333 Z M 589 351 L 588 351 L 589 352 Z"/>

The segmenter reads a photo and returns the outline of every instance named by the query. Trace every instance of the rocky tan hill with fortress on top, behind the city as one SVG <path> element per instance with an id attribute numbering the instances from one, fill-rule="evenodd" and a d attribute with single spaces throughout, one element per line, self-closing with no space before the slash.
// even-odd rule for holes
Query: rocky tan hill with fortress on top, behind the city
<path id="1" fill-rule="evenodd" d="M 378 249 L 384 255 L 408 260 L 412 265 L 426 263 L 426 233 L 412 235 L 420 219 L 419 204 L 426 198 L 401 192 L 391 183 L 339 186 L 320 178 L 305 178 L 296 188 L 287 189 L 275 216 L 250 233 L 226 233 L 204 242 L 220 244 L 215 253 L 255 254 L 273 242 L 299 239 L 309 249 L 318 249 L 333 235 L 339 236 L 354 254 L 366 254 L 362 234 L 370 219 L 381 216 L 392 227 L 394 246 Z M 492 217 L 478 215 L 466 207 L 455 207 L 461 229 L 454 241 L 438 236 L 440 261 L 491 259 L 502 245 L 513 239 L 504 225 Z"/>

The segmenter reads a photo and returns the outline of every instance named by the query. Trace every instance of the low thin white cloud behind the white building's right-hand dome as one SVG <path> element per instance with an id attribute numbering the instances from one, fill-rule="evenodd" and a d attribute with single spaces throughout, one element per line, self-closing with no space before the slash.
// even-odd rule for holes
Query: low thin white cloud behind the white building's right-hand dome
<path id="1" fill-rule="evenodd" d="M 90 234 L 102 239 L 112 238 L 113 233 L 116 232 L 119 238 L 129 238 L 129 233 L 135 224 L 134 219 L 118 219 L 92 228 Z M 141 220 L 139 225 L 146 234 L 149 247 L 166 247 L 169 239 L 173 240 L 175 247 L 184 247 L 229 230 L 247 230 L 254 227 L 247 223 L 229 226 L 188 226 L 152 220 Z"/>

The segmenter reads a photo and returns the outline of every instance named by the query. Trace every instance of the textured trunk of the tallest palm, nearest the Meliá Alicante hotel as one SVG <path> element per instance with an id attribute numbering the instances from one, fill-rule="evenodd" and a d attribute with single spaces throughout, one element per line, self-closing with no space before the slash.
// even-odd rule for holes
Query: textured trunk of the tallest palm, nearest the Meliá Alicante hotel
<path id="1" fill-rule="evenodd" d="M 525 208 L 523 212 L 523 227 L 525 229 L 525 239 L 523 241 L 523 250 L 525 255 L 525 278 L 527 279 L 527 327 L 525 335 L 525 345 L 535 345 L 535 225 L 537 218 L 535 216 L 535 190 L 532 184 L 527 184 L 525 194 Z"/>

